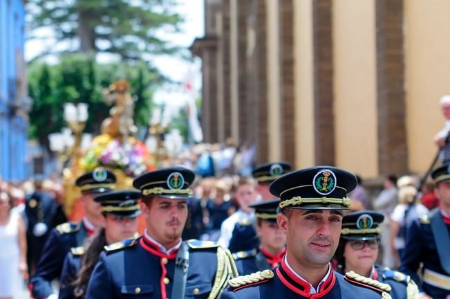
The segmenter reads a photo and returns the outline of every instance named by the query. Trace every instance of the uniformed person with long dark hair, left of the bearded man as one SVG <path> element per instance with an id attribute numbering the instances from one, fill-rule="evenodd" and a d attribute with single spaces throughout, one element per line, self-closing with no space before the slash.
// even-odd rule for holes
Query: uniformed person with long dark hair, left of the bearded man
<path id="1" fill-rule="evenodd" d="M 136 217 L 140 215 L 138 199 L 140 192 L 136 190 L 105 192 L 95 197 L 94 200 L 102 205 L 104 228 L 93 239 L 88 239 L 87 244 L 71 248 L 67 253 L 59 279 L 59 299 L 84 298 L 89 278 L 104 247 L 138 237 L 135 235 L 138 230 Z"/>

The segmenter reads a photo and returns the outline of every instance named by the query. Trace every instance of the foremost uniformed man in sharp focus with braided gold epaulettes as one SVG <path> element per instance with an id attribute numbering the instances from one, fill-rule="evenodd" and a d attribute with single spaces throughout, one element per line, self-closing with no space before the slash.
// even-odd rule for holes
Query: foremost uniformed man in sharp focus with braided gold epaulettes
<path id="1" fill-rule="evenodd" d="M 282 212 L 277 223 L 288 245 L 281 264 L 229 281 L 221 298 L 391 298 L 387 284 L 355 273 L 345 278 L 330 260 L 341 234 L 347 193 L 355 189 L 353 174 L 318 166 L 281 176 L 270 185 Z"/>

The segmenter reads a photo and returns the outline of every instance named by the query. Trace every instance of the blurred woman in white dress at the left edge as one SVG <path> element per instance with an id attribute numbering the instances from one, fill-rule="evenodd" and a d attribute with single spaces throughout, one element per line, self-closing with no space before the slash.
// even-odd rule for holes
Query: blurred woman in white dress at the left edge
<path id="1" fill-rule="evenodd" d="M 24 223 L 11 209 L 12 199 L 0 192 L 0 298 L 17 298 L 28 279 Z"/>

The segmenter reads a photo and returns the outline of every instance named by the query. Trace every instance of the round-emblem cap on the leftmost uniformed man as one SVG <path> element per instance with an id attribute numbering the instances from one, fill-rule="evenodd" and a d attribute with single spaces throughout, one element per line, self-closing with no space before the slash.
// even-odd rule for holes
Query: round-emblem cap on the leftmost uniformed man
<path id="1" fill-rule="evenodd" d="M 103 167 L 97 167 L 79 176 L 75 184 L 83 193 L 109 192 L 115 188 L 115 175 Z"/>

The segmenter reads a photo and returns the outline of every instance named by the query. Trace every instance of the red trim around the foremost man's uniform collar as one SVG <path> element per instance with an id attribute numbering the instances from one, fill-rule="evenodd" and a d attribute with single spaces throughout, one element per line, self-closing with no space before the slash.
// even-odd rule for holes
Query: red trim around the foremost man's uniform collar
<path id="1" fill-rule="evenodd" d="M 330 271 L 328 278 L 322 282 L 321 287 L 317 290 L 315 294 L 311 294 L 310 284 L 306 280 L 301 280 L 295 273 L 292 273 L 288 266 L 286 266 L 284 259 L 281 260 L 281 266 L 276 269 L 276 274 L 283 284 L 288 287 L 291 291 L 298 293 L 301 296 L 306 296 L 309 298 L 320 298 L 325 296 L 334 287 L 336 282 L 335 271 Z"/>

